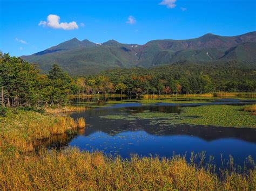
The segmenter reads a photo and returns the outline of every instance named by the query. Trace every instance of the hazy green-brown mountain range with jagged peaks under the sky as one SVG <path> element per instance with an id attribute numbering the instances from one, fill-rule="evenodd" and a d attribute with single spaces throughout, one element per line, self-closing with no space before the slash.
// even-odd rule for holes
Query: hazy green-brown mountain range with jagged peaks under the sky
<path id="1" fill-rule="evenodd" d="M 235 37 L 205 34 L 187 40 L 152 40 L 144 45 L 122 44 L 115 40 L 97 44 L 73 38 L 22 58 L 37 63 L 43 72 L 57 63 L 71 75 L 93 74 L 113 68 L 150 68 L 180 61 L 236 60 L 254 67 L 256 31 Z"/>

